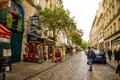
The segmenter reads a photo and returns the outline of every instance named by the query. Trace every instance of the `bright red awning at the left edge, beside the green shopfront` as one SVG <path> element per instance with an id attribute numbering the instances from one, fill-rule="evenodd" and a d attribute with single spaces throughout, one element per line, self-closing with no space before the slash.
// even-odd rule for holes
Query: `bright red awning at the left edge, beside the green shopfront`
<path id="1" fill-rule="evenodd" d="M 1 38 L 11 38 L 12 32 L 8 30 L 5 26 L 0 24 L 0 37 Z"/>

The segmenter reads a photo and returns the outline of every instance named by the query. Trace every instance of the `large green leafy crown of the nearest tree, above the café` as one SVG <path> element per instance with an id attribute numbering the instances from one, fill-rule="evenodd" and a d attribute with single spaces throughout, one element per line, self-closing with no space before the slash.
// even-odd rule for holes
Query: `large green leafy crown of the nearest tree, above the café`
<path id="1" fill-rule="evenodd" d="M 40 10 L 39 15 L 43 26 L 47 26 L 49 30 L 53 31 L 54 39 L 56 32 L 67 32 L 75 26 L 74 20 L 69 16 L 69 12 L 63 8 L 46 8 Z"/>

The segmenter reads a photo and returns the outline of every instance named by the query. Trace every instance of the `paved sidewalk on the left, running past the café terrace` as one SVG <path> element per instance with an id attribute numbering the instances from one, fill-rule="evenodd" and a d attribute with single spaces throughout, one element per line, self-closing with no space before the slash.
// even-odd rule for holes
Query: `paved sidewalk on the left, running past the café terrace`
<path id="1" fill-rule="evenodd" d="M 73 56 L 73 55 L 72 55 Z M 66 59 L 72 56 L 66 56 Z M 63 60 L 63 61 L 65 61 Z M 49 69 L 63 61 L 53 63 L 51 60 L 45 61 L 43 63 L 31 63 L 31 62 L 19 62 L 12 64 L 12 71 L 6 72 L 5 80 L 26 80 L 30 76 L 41 73 L 42 71 Z M 3 74 L 0 73 L 0 80 L 2 80 Z"/>

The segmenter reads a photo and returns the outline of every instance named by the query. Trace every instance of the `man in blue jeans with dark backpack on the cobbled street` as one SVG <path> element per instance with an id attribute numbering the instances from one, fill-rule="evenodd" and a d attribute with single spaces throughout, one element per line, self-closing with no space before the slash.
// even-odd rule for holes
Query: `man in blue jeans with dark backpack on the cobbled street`
<path id="1" fill-rule="evenodd" d="M 87 59 L 88 59 L 88 63 L 89 63 L 89 65 L 90 65 L 90 68 L 89 68 L 89 70 L 88 71 L 92 71 L 93 69 L 92 69 L 92 59 L 95 59 L 95 53 L 94 53 L 94 51 L 91 49 L 91 47 L 88 47 L 88 51 L 87 51 Z"/>

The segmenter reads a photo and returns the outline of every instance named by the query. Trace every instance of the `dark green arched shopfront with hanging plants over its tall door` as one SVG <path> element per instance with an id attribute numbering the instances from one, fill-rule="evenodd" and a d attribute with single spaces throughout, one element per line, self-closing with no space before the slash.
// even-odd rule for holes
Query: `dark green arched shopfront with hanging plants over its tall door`
<path id="1" fill-rule="evenodd" d="M 24 32 L 24 10 L 17 0 L 3 0 L 0 1 L 0 4 L 3 2 L 9 4 L 9 6 L 3 7 L 3 12 L 5 14 L 0 12 L 0 14 L 2 14 L 0 15 L 0 23 L 12 33 L 10 39 L 11 62 L 16 63 L 21 61 L 22 38 Z"/>

